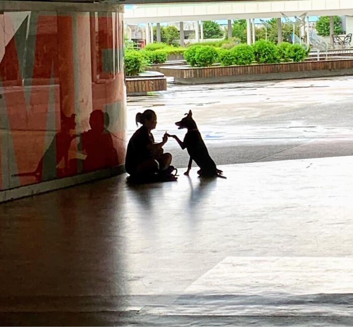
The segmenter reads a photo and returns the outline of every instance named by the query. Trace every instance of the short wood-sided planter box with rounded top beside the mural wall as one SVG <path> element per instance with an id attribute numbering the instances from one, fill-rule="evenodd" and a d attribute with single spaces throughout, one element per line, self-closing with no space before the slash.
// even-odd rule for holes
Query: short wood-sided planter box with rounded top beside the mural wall
<path id="1" fill-rule="evenodd" d="M 145 72 L 139 76 L 126 77 L 127 95 L 146 95 L 147 92 L 165 91 L 167 79 L 163 74 Z"/>

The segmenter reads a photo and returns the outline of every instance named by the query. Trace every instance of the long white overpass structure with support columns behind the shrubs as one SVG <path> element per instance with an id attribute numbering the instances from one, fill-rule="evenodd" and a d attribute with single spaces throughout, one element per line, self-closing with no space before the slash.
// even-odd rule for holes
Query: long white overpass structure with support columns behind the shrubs
<path id="1" fill-rule="evenodd" d="M 125 11 L 125 24 L 146 23 L 146 42 L 153 42 L 151 26 L 157 23 L 157 41 L 160 40 L 160 23 L 180 22 L 180 42 L 184 44 L 183 22 L 194 21 L 196 23 L 195 35 L 199 39 L 199 30 L 206 20 L 228 20 L 228 37 L 230 34 L 231 19 L 247 19 L 248 43 L 252 41 L 251 19 L 278 18 L 278 39 L 281 37 L 281 17 L 299 16 L 306 13 L 307 16 L 331 16 L 331 32 L 333 34 L 333 16 L 353 15 L 353 2 L 351 0 L 286 0 L 286 1 L 242 1 L 227 3 L 203 3 L 203 4 L 158 4 L 137 5 Z M 254 23 L 252 24 L 254 26 Z M 352 24 L 353 25 L 353 24 Z M 353 26 L 352 26 L 353 27 Z M 309 29 L 307 28 L 307 31 Z M 253 37 L 254 39 L 254 37 Z"/>

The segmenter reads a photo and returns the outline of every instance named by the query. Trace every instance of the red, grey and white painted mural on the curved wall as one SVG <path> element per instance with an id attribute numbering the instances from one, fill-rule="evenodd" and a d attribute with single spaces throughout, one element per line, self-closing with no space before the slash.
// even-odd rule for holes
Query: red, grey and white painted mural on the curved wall
<path id="1" fill-rule="evenodd" d="M 0 190 L 124 162 L 122 16 L 0 14 Z"/>

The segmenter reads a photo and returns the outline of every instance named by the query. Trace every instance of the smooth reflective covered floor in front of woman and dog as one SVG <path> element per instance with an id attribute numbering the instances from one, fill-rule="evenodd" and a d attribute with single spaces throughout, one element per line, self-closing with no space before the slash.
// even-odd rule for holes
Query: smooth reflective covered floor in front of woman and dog
<path id="1" fill-rule="evenodd" d="M 353 156 L 0 205 L 1 325 L 351 325 Z"/>

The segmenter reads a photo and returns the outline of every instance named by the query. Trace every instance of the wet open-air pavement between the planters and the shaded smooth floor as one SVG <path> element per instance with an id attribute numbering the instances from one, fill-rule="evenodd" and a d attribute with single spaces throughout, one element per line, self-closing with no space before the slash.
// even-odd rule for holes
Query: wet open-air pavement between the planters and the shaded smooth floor
<path id="1" fill-rule="evenodd" d="M 179 121 L 189 110 L 218 165 L 353 154 L 353 77 L 209 85 L 168 84 L 168 90 L 128 99 L 129 135 L 135 115 L 152 108 L 161 139 L 181 138 Z M 174 165 L 188 156 L 172 139 L 165 149 Z"/>

